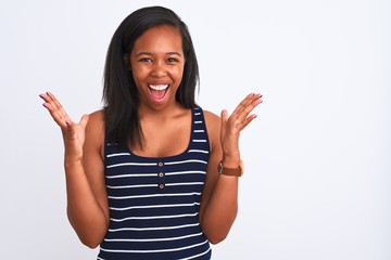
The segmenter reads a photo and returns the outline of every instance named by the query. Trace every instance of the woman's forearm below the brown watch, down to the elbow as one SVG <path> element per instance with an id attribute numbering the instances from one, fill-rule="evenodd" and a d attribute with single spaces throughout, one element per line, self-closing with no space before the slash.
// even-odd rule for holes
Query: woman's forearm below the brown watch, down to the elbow
<path id="1" fill-rule="evenodd" d="M 227 235 L 238 212 L 238 177 L 219 174 L 211 199 L 205 206 L 201 226 L 212 244 Z"/>

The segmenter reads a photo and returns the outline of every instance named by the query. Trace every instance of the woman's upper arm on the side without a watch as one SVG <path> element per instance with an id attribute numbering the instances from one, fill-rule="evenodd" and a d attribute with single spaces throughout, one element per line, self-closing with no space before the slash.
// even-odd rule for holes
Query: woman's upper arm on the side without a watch
<path id="1" fill-rule="evenodd" d="M 104 180 L 104 120 L 103 112 L 92 113 L 86 127 L 84 168 L 91 191 L 109 223 L 109 204 Z"/>

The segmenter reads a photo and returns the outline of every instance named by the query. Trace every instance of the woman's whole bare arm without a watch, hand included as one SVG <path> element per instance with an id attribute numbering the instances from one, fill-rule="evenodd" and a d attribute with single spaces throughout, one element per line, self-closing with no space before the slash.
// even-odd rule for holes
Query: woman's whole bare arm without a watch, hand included
<path id="1" fill-rule="evenodd" d="M 85 245 L 97 247 L 109 226 L 102 113 L 85 115 L 75 123 L 53 94 L 40 96 L 63 134 L 68 220 Z"/>

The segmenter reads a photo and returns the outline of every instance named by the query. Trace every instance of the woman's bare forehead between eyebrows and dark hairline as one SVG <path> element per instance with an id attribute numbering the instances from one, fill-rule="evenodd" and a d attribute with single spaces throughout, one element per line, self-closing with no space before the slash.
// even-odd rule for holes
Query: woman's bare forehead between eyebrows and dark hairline
<path id="1" fill-rule="evenodd" d="M 182 52 L 182 40 L 177 28 L 169 25 L 154 26 L 146 30 L 137 40 L 133 52 Z"/>

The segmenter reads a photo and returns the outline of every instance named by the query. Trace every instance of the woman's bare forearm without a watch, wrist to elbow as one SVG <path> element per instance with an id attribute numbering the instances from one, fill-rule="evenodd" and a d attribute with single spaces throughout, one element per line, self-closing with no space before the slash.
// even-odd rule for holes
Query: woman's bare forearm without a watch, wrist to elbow
<path id="1" fill-rule="evenodd" d="M 64 165 L 68 220 L 79 239 L 94 248 L 103 239 L 109 221 L 92 193 L 83 162 L 65 159 Z"/>

